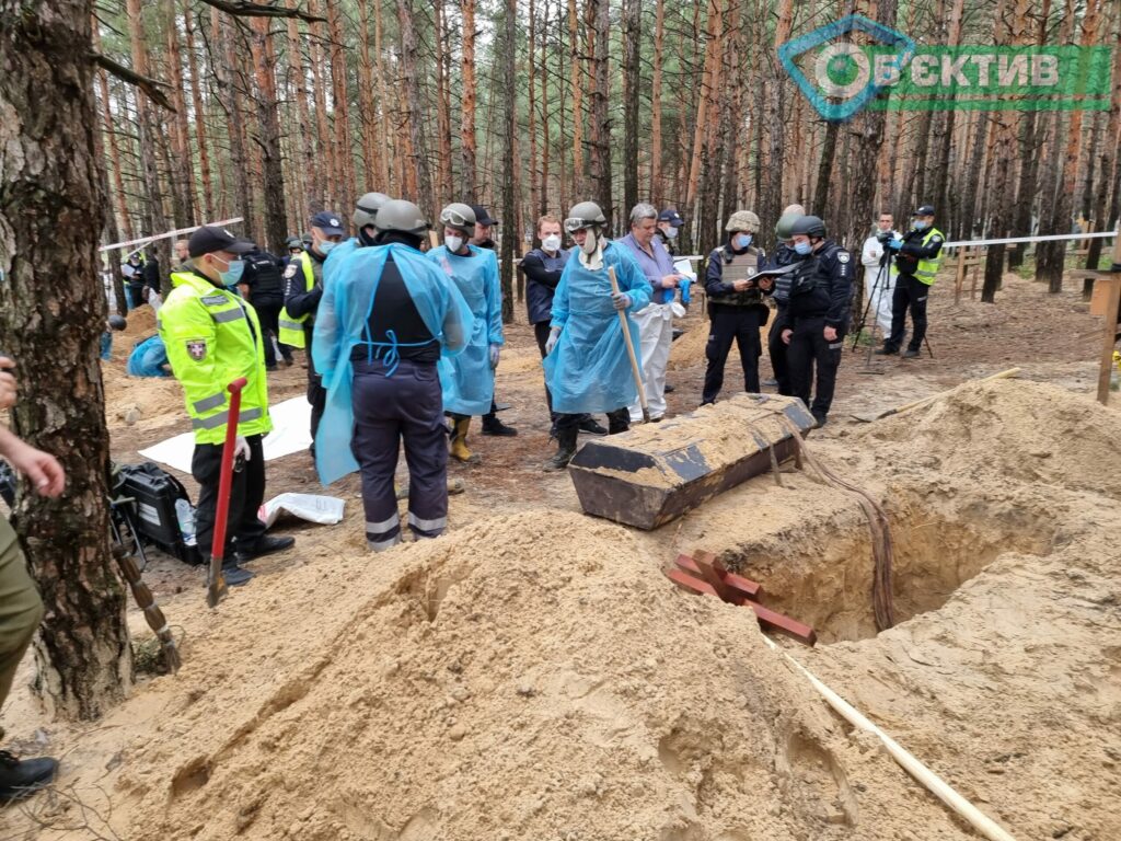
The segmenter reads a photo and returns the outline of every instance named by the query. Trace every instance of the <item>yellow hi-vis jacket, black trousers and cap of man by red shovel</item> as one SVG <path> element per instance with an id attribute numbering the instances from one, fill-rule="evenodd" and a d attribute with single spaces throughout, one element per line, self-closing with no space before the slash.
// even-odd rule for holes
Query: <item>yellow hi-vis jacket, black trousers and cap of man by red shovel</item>
<path id="1" fill-rule="evenodd" d="M 205 233 L 222 229 L 198 229 L 192 243 L 205 240 Z M 211 247 L 245 253 L 244 240 L 228 234 L 224 244 Z M 192 248 L 192 253 L 198 251 Z M 219 473 L 222 445 L 230 417 L 229 386 L 244 377 L 238 434 L 249 443 L 250 458 L 233 471 L 230 493 L 225 558 L 229 565 L 238 555 L 251 557 L 271 538 L 265 537 L 265 524 L 257 511 L 265 499 L 263 436 L 271 431 L 268 382 L 261 326 L 252 305 L 237 293 L 216 286 L 197 270 L 172 275 L 174 289 L 159 313 L 159 336 L 175 378 L 183 386 L 187 415 L 195 434 L 191 474 L 198 482 L 195 534 L 198 546 L 209 551 L 217 512 Z"/>

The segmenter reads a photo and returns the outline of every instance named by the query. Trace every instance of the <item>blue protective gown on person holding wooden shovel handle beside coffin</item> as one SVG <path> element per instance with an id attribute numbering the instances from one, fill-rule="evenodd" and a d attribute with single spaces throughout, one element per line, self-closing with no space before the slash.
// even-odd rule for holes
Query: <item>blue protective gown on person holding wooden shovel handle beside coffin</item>
<path id="1" fill-rule="evenodd" d="M 638 389 L 622 325 L 611 303 L 608 267 L 615 267 L 619 290 L 631 298 L 627 322 L 636 359 L 641 359 L 638 325 L 630 315 L 650 303 L 652 289 L 626 248 L 608 242 L 603 268 L 596 271 L 581 265 L 577 251 L 573 249 L 553 298 L 552 326 L 560 327 L 560 336 L 541 362 L 545 383 L 553 394 L 554 412 L 614 412 L 638 400 Z"/>

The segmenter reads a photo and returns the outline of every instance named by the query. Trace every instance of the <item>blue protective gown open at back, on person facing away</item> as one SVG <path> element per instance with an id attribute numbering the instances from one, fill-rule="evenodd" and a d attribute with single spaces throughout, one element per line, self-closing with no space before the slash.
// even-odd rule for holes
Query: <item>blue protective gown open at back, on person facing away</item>
<path id="1" fill-rule="evenodd" d="M 351 453 L 354 432 L 351 351 L 359 343 L 370 344 L 372 355 L 385 360 L 387 366 L 392 366 L 397 357 L 392 338 L 368 335 L 370 311 L 389 255 L 393 256 L 425 326 L 439 341 L 444 357 L 460 353 L 474 330 L 471 309 L 458 289 L 420 251 L 393 243 L 360 248 L 350 255 L 323 290 L 312 340 L 315 364 L 327 390 L 315 447 L 315 465 L 324 484 L 358 470 L 358 461 Z"/>

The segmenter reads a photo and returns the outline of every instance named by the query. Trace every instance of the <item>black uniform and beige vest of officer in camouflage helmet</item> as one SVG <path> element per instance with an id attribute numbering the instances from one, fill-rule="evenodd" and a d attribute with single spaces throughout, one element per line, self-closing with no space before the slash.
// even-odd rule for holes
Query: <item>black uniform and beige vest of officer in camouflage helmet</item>
<path id="1" fill-rule="evenodd" d="M 749 246 L 742 250 L 732 248 L 731 242 L 708 255 L 704 288 L 708 296 L 708 318 L 711 327 L 705 358 L 708 367 L 704 375 L 704 390 L 701 404 L 715 403 L 724 385 L 724 366 L 734 341 L 740 349 L 743 366 L 743 390 L 759 391 L 759 357 L 762 343 L 759 331 L 770 317 L 770 309 L 763 303 L 763 293 L 758 286 L 745 292 L 735 292 L 736 280 L 751 280 L 767 262 L 761 248 Z"/>

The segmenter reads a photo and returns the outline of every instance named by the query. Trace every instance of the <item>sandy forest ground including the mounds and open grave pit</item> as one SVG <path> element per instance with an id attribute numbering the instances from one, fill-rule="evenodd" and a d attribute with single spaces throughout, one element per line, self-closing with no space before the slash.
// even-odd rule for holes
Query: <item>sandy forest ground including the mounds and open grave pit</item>
<path id="1" fill-rule="evenodd" d="M 1101 320 L 1072 281 L 1054 296 L 1010 274 L 994 305 L 954 305 L 952 283 L 932 295 L 934 358 L 868 376 L 846 349 L 809 436 L 888 511 L 895 628 L 872 621 L 860 507 L 809 474 L 759 477 L 652 533 L 582 515 L 568 477 L 540 471 L 555 445 L 519 305 L 497 396 L 520 434 L 474 431 L 450 534 L 370 555 L 355 477 L 324 490 L 306 454 L 269 462 L 269 496 L 332 493 L 343 523 L 282 520 L 295 549 L 214 612 L 203 570 L 151 553 L 184 666 L 102 721 L 52 721 L 28 658 L 4 724 L 63 769 L 0 812 L 0 839 L 974 838 L 748 611 L 664 580 L 693 548 L 813 625 L 815 649 L 782 648 L 1013 837 L 1121 838 L 1121 413 L 1093 401 Z M 696 407 L 705 366 L 700 313 L 679 326 L 670 414 Z M 123 375 L 150 332 L 133 316 L 104 366 L 119 462 L 188 428 L 174 381 Z M 736 371 L 733 350 L 725 395 Z M 270 375 L 272 399 L 305 376 Z M 135 608 L 130 623 L 150 636 Z"/>

